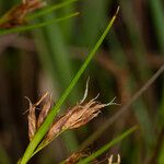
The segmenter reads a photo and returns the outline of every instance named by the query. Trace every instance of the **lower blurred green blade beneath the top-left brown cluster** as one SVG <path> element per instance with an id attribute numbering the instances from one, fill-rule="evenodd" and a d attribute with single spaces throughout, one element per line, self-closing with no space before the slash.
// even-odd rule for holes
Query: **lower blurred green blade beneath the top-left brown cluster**
<path id="1" fill-rule="evenodd" d="M 59 17 L 59 19 L 54 19 L 54 20 L 43 22 L 43 23 L 39 23 L 39 24 L 20 26 L 20 27 L 10 28 L 10 30 L 2 30 L 2 31 L 0 31 L 0 35 L 7 35 L 7 34 L 10 34 L 10 33 L 20 33 L 20 32 L 34 30 L 34 28 L 44 27 L 46 25 L 49 25 L 49 24 L 52 24 L 52 23 L 58 23 L 58 22 L 68 20 L 70 17 L 77 16 L 78 14 L 79 14 L 79 12 L 75 12 L 75 13 L 71 13 L 69 15 L 66 15 L 66 16 L 62 16 L 62 17 Z"/>

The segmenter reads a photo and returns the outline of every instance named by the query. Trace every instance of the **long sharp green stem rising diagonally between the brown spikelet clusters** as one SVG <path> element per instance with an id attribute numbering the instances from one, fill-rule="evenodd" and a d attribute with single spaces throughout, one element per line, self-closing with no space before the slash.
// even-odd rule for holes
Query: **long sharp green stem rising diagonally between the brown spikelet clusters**
<path id="1" fill-rule="evenodd" d="M 84 61 L 84 63 L 82 65 L 82 67 L 80 68 L 80 70 L 75 74 L 75 77 L 73 78 L 73 80 L 71 81 L 70 85 L 66 89 L 63 94 L 60 96 L 60 98 L 58 99 L 56 106 L 50 110 L 50 113 L 48 114 L 46 120 L 44 121 L 42 127 L 38 129 L 38 131 L 34 136 L 33 140 L 30 142 L 30 144 L 28 144 L 28 147 L 27 147 L 27 149 L 26 149 L 26 151 L 25 151 L 25 153 L 24 153 L 20 164 L 26 164 L 30 161 L 30 159 L 32 157 L 33 152 L 35 151 L 36 147 L 38 145 L 40 140 L 44 138 L 46 132 L 48 131 L 48 129 L 49 129 L 54 118 L 56 117 L 57 113 L 59 112 L 61 105 L 63 104 L 63 102 L 66 101 L 66 98 L 68 97 L 70 92 L 72 91 L 73 86 L 79 81 L 79 79 L 82 75 L 82 73 L 85 71 L 85 69 L 89 66 L 90 61 L 92 60 L 92 58 L 94 57 L 95 52 L 99 48 L 99 46 L 103 43 L 104 38 L 108 34 L 109 30 L 112 28 L 112 26 L 113 26 L 113 24 L 114 24 L 114 22 L 116 20 L 117 13 L 118 13 L 118 10 L 117 10 L 116 14 L 113 16 L 113 19 L 109 22 L 109 24 L 107 25 L 107 27 L 104 31 L 104 33 L 102 34 L 101 38 L 98 39 L 98 42 L 96 43 L 96 45 L 92 49 L 92 51 L 89 54 L 86 60 Z"/>

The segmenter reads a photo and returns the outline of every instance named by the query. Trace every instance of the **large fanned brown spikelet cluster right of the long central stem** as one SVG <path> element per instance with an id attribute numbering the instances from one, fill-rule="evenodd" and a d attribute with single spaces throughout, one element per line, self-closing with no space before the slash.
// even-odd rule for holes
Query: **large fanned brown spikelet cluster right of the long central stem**
<path id="1" fill-rule="evenodd" d="M 69 109 L 63 116 L 56 120 L 49 129 L 44 142 L 51 142 L 59 133 L 68 129 L 75 129 L 96 117 L 105 106 L 115 104 L 113 101 L 108 104 L 96 102 L 97 97 L 87 103 L 80 103 Z"/>

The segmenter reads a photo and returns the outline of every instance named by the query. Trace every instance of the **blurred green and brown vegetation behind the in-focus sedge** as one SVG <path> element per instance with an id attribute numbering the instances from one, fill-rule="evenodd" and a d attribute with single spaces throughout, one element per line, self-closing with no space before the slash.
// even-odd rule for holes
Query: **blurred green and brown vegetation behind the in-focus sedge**
<path id="1" fill-rule="evenodd" d="M 1 0 L 0 14 L 17 2 Z M 116 96 L 117 103 L 124 106 L 164 63 L 162 0 L 79 0 L 33 23 L 73 11 L 80 12 L 77 17 L 28 33 L 0 36 L 0 163 L 15 163 L 28 143 L 27 114 L 23 115 L 28 102 L 24 96 L 35 103 L 48 91 L 56 102 L 118 5 L 120 12 L 110 34 L 61 112 L 81 99 L 89 77 L 89 99 L 99 93 L 99 102 L 106 103 Z M 109 106 L 87 126 L 65 132 L 31 163 L 62 161 L 118 110 L 119 106 Z M 90 154 L 133 125 L 140 125 L 140 129 L 98 161 L 119 153 L 126 164 L 164 164 L 164 75 L 85 150 Z"/>

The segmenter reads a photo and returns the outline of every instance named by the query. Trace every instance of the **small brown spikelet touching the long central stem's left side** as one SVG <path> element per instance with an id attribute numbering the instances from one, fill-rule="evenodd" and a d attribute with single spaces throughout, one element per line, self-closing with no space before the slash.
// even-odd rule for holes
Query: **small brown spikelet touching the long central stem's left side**
<path id="1" fill-rule="evenodd" d="M 48 94 L 47 99 L 43 106 L 43 109 L 40 110 L 37 119 L 37 128 L 42 126 L 44 122 L 45 118 L 47 117 L 49 109 L 51 108 L 51 96 Z"/>

